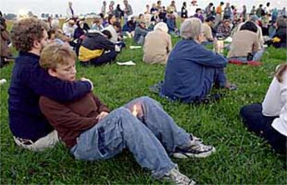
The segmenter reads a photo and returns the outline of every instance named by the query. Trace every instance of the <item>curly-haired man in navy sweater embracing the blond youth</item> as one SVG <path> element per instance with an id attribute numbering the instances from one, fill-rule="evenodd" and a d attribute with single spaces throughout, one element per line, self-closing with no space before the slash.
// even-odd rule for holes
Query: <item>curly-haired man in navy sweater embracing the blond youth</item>
<path id="1" fill-rule="evenodd" d="M 47 26 L 43 21 L 21 19 L 13 26 L 11 37 L 19 57 L 9 88 L 10 130 L 18 146 L 44 150 L 58 142 L 58 133 L 41 113 L 40 96 L 64 103 L 83 97 L 94 87 L 89 79 L 61 81 L 40 67 L 40 52 L 48 43 Z"/>

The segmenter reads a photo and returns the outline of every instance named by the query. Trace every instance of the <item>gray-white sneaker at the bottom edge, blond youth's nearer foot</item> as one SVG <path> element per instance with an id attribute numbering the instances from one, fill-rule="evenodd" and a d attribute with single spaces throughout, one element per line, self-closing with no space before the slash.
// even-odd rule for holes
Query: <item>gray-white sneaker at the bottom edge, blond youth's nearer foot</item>
<path id="1" fill-rule="evenodd" d="M 189 177 L 186 177 L 177 168 L 173 168 L 169 173 L 164 175 L 162 179 L 168 180 L 169 182 L 173 182 L 174 184 L 178 185 L 194 185 L 195 182 Z"/>

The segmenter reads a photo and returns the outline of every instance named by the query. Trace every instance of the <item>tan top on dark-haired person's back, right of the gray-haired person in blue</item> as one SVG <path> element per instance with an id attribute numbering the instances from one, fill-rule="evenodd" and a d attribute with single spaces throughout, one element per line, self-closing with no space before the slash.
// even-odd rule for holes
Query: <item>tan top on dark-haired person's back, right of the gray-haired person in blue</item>
<path id="1" fill-rule="evenodd" d="M 259 50 L 259 38 L 256 32 L 240 30 L 234 34 L 231 49 L 227 57 L 247 57 L 248 53 Z"/>

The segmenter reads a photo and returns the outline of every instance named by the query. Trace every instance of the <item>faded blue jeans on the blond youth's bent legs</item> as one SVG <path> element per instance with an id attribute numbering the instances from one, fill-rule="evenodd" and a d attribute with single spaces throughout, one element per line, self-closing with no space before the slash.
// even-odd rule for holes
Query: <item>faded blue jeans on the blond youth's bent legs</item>
<path id="1" fill-rule="evenodd" d="M 137 106 L 137 117 L 132 115 Z M 112 111 L 78 137 L 71 153 L 76 159 L 109 159 L 128 148 L 143 168 L 160 178 L 177 166 L 168 156 L 190 142 L 189 133 L 175 124 L 162 106 L 150 97 L 134 99 Z"/>

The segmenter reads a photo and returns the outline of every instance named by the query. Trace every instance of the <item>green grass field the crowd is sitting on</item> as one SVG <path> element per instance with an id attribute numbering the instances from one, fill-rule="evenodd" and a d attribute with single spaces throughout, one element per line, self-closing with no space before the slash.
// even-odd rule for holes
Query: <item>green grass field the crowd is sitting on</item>
<path id="1" fill-rule="evenodd" d="M 177 39 L 173 39 L 176 43 Z M 132 41 L 128 41 L 128 46 Z M 245 104 L 261 102 L 278 64 L 286 62 L 287 51 L 268 48 L 263 66 L 229 64 L 229 81 L 238 90 L 227 91 L 214 104 L 172 104 L 150 93 L 148 87 L 162 80 L 165 66 L 150 66 L 141 61 L 142 50 L 125 49 L 117 61 L 134 61 L 137 66 L 116 64 L 97 68 L 78 65 L 78 77 L 94 82 L 96 93 L 111 109 L 131 99 L 150 96 L 185 130 L 202 137 L 217 152 L 206 159 L 173 159 L 182 173 L 198 184 L 286 184 L 286 159 L 275 154 L 263 139 L 247 132 L 238 115 Z M 8 88 L 13 64 L 1 68 L 1 184 L 160 184 L 135 162 L 128 152 L 101 162 L 77 161 L 62 144 L 42 153 L 20 149 L 13 142 L 8 126 Z"/>

